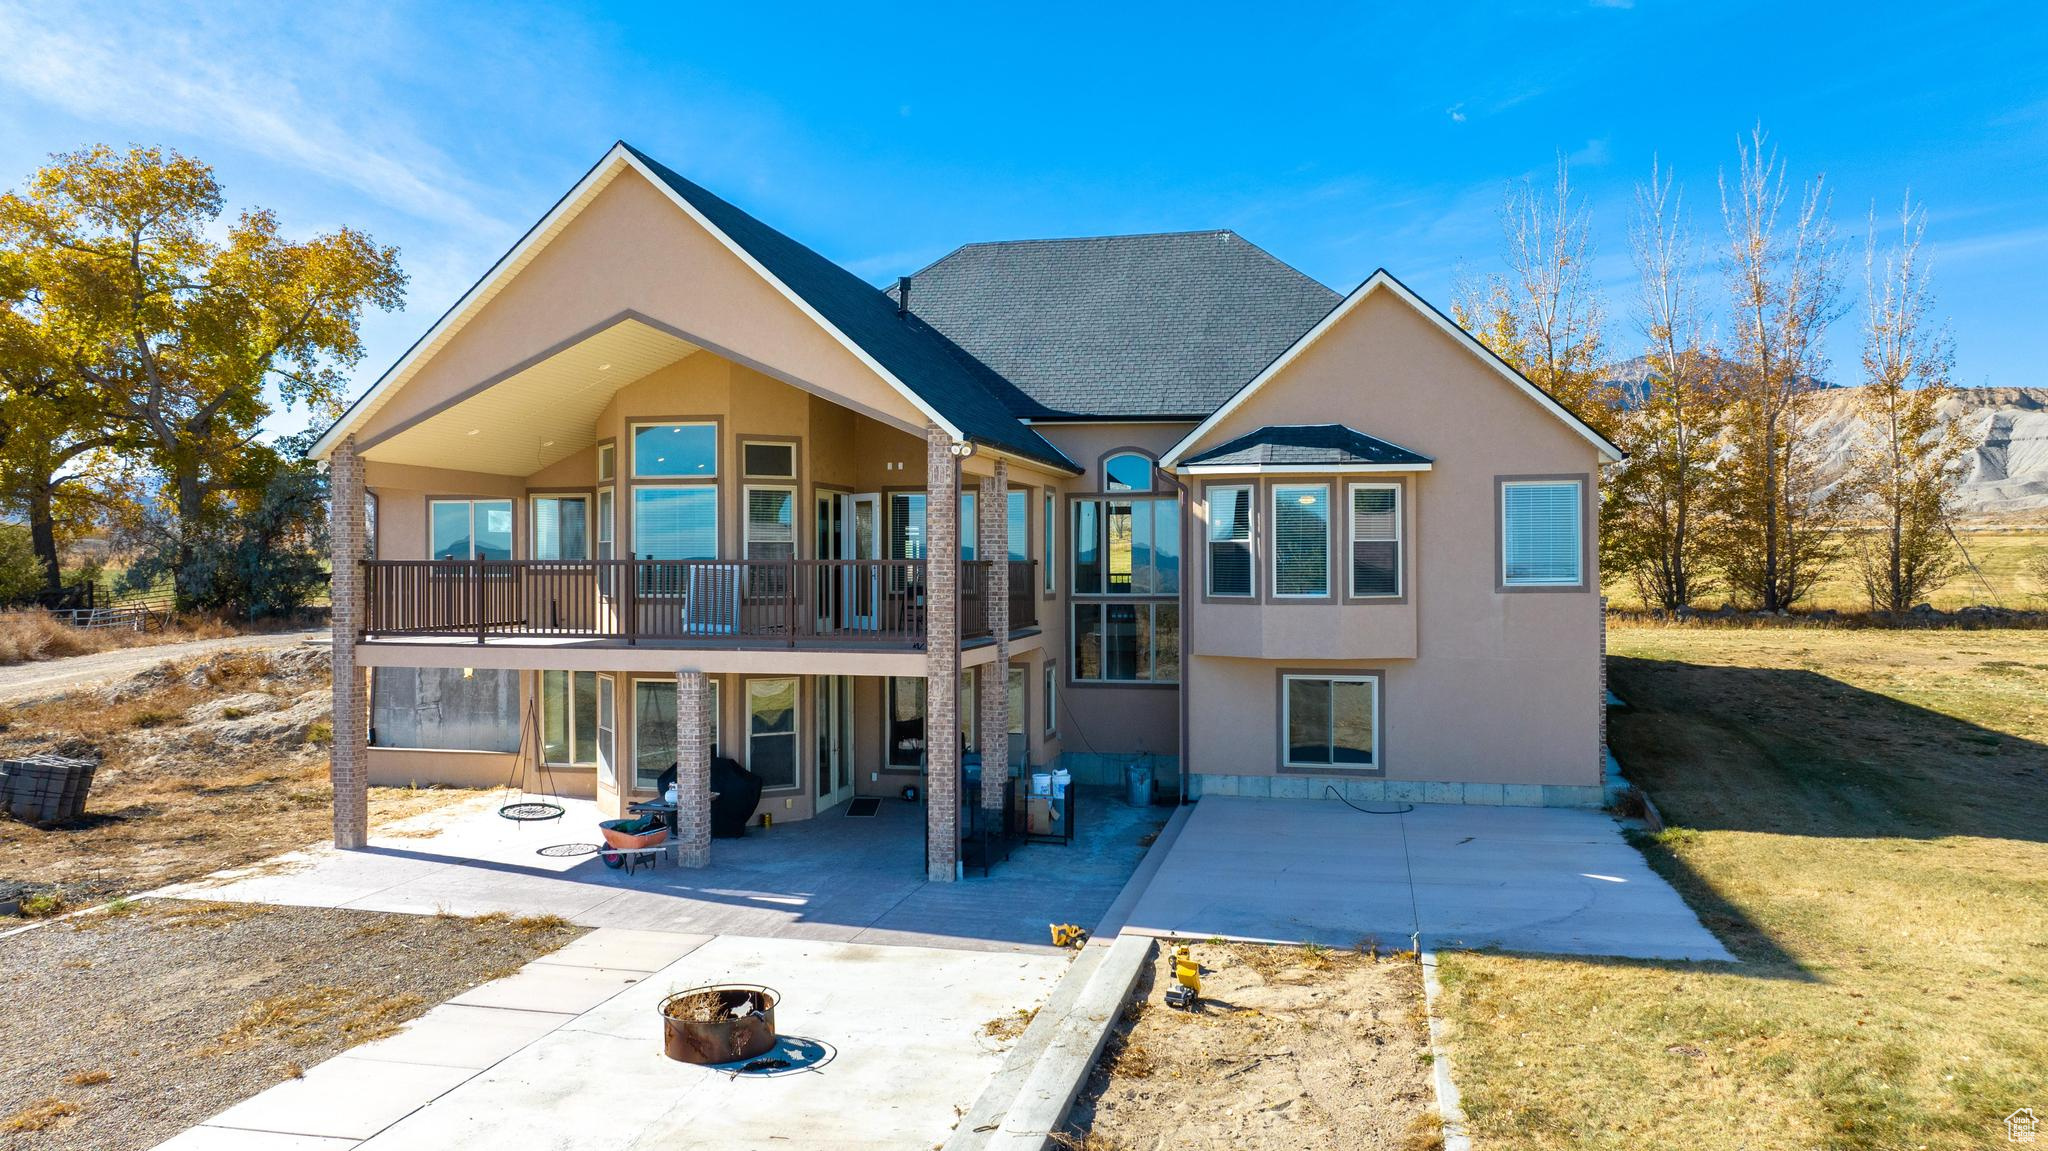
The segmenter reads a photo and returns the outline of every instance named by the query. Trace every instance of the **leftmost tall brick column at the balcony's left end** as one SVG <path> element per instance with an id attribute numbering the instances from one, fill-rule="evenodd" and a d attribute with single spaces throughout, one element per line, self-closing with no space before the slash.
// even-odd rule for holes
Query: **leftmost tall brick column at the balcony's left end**
<path id="1" fill-rule="evenodd" d="M 356 668 L 362 639 L 362 457 L 356 438 L 342 440 L 328 459 L 328 541 L 334 549 L 334 743 L 328 778 L 334 784 L 334 846 L 360 848 L 371 838 L 369 690 Z"/>

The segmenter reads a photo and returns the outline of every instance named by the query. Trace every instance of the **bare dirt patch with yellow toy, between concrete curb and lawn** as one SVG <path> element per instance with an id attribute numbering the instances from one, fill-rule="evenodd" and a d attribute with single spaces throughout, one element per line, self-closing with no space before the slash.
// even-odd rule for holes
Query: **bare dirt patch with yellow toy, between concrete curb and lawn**
<path id="1" fill-rule="evenodd" d="M 1194 944 L 1202 1001 L 1178 1012 L 1169 948 L 1069 1118 L 1071 1147 L 1300 1151 L 1440 1147 L 1421 971 L 1407 956 Z"/>

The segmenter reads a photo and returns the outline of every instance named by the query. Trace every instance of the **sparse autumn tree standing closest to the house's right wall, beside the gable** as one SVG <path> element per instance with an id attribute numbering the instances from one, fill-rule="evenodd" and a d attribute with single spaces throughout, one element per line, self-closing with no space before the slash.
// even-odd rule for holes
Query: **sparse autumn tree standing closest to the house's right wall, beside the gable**
<path id="1" fill-rule="evenodd" d="M 1632 317 L 1647 375 L 1618 414 L 1628 451 L 1606 483 L 1604 567 L 1626 571 L 1645 604 L 1686 610 L 1712 588 L 1712 506 L 1726 432 L 1720 360 L 1708 346 L 1686 193 L 1651 162 L 1628 227 L 1636 264 Z"/>

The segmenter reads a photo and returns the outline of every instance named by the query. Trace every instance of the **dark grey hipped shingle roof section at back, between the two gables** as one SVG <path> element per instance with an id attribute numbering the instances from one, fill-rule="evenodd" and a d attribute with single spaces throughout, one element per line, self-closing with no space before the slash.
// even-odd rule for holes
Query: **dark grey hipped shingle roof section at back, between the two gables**
<path id="1" fill-rule="evenodd" d="M 1178 231 L 969 244 L 911 276 L 909 309 L 1022 418 L 1202 418 L 1339 299 L 1235 231 Z"/>

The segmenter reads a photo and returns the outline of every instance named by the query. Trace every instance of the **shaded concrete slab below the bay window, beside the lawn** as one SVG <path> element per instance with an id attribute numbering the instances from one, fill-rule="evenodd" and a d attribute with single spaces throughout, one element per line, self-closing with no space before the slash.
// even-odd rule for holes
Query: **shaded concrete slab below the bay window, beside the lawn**
<path id="1" fill-rule="evenodd" d="M 1368 805 L 1395 807 L 1395 805 Z M 1202 799 L 1130 932 L 1352 946 L 1735 956 L 1599 811 Z"/>

